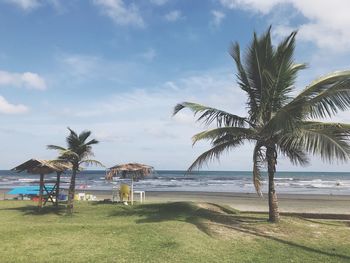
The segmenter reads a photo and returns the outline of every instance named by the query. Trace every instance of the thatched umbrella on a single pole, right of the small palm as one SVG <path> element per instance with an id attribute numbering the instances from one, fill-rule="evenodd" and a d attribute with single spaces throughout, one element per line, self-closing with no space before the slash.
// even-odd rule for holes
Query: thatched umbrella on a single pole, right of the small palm
<path id="1" fill-rule="evenodd" d="M 107 180 L 112 180 L 113 177 L 130 178 L 131 179 L 131 204 L 134 203 L 134 184 L 133 181 L 138 181 L 151 175 L 154 172 L 152 166 L 141 163 L 126 163 L 115 165 L 108 169 L 106 174 Z"/>

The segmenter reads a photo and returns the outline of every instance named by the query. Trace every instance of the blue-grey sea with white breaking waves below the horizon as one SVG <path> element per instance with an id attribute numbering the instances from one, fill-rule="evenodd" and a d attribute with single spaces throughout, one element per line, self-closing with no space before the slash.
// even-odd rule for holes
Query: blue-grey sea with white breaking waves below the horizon
<path id="1" fill-rule="evenodd" d="M 263 177 L 263 192 L 267 191 L 267 175 Z M 55 180 L 46 175 L 45 180 Z M 70 174 L 62 174 L 61 187 L 68 188 Z M 0 170 L 0 189 L 32 185 L 38 175 Z M 279 193 L 350 195 L 350 172 L 277 172 L 276 188 Z M 105 171 L 86 170 L 78 174 L 76 188 L 81 190 L 111 190 L 113 182 L 105 180 Z M 186 171 L 159 170 L 153 176 L 134 183 L 135 190 L 145 191 L 198 191 L 254 193 L 252 172 L 249 171 Z"/>

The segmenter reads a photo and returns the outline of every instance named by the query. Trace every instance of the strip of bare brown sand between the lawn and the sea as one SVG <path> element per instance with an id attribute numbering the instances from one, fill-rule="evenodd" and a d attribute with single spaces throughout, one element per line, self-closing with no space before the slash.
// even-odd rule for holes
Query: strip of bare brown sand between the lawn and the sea
<path id="1" fill-rule="evenodd" d="M 8 190 L 0 190 L 0 200 L 12 198 Z M 79 191 L 77 191 L 78 193 Z M 86 191 L 94 194 L 98 200 L 110 199 L 110 191 Z M 278 195 L 281 212 L 350 214 L 349 195 Z M 138 201 L 138 195 L 135 195 Z M 146 192 L 146 202 L 193 201 L 229 205 L 240 211 L 268 211 L 267 196 L 256 194 L 219 193 L 219 192 Z"/>

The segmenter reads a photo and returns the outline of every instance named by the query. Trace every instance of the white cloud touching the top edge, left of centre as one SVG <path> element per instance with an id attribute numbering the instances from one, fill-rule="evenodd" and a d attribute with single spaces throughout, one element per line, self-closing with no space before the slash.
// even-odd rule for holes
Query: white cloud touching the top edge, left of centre
<path id="1" fill-rule="evenodd" d="M 128 6 L 122 0 L 93 0 L 93 3 L 118 25 L 145 26 L 139 9 L 134 3 Z"/>

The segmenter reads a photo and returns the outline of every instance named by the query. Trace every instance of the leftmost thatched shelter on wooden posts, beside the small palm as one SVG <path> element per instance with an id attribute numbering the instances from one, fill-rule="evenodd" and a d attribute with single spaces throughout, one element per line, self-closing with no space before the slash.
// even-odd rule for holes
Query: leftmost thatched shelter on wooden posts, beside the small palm
<path id="1" fill-rule="evenodd" d="M 59 187 L 60 187 L 60 176 L 61 174 L 70 169 L 70 166 L 68 164 L 64 163 L 56 163 L 48 160 L 37 160 L 37 159 L 30 159 L 15 168 L 12 169 L 12 171 L 15 172 L 23 172 L 26 171 L 30 174 L 40 174 L 40 186 L 39 186 L 39 207 L 41 208 L 43 206 L 42 204 L 42 196 L 43 196 L 43 188 L 44 188 L 44 175 L 45 174 L 51 174 L 56 172 L 57 173 L 57 181 L 56 181 L 56 206 L 58 204 L 58 194 L 59 194 Z"/>

